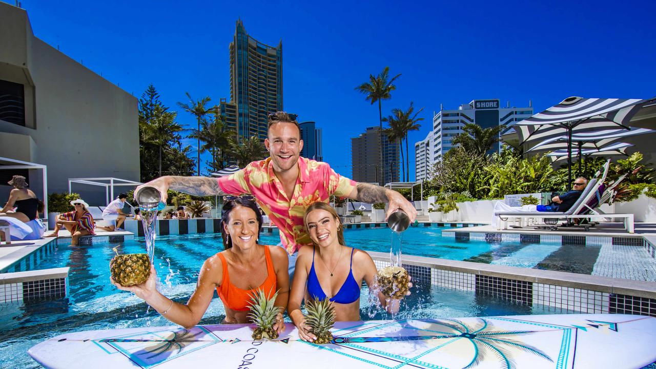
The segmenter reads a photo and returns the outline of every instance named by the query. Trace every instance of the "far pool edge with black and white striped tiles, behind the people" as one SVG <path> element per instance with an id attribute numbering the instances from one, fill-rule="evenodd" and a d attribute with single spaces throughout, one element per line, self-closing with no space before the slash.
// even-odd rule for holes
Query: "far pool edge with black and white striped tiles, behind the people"
<path id="1" fill-rule="evenodd" d="M 443 222 L 422 222 L 413 225 L 413 227 L 475 227 L 481 223 L 443 223 Z M 144 225 L 141 221 L 128 219 L 123 226 L 128 232 L 133 232 L 136 237 L 144 236 Z M 346 228 L 384 228 L 387 223 L 345 223 Z M 264 225 L 263 232 L 273 232 L 275 226 Z M 155 224 L 157 236 L 168 236 L 173 234 L 198 234 L 198 233 L 220 233 L 220 218 L 198 218 L 198 219 L 157 219 Z"/>

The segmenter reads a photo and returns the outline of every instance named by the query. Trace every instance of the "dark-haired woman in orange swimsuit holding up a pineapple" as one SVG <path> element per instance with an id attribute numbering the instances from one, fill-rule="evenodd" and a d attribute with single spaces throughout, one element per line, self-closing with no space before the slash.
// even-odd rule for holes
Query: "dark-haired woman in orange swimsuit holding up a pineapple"
<path id="1" fill-rule="evenodd" d="M 281 309 L 274 329 L 282 332 L 285 329 L 282 313 L 289 298 L 287 252 L 277 246 L 257 243 L 262 216 L 252 200 L 237 198 L 224 204 L 221 225 L 225 250 L 205 260 L 196 290 L 186 304 L 175 303 L 157 291 L 153 266 L 144 284 L 114 285 L 120 290 L 134 292 L 161 315 L 185 328 L 198 324 L 212 301 L 214 290 L 226 308 L 224 324 L 249 322 L 248 305 L 253 292 L 263 290 L 271 297 L 278 291 L 276 306 Z"/>

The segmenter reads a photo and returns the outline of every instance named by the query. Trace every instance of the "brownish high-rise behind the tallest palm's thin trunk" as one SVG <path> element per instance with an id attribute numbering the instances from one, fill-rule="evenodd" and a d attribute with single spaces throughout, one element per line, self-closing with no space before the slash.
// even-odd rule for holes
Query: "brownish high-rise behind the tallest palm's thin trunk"
<path id="1" fill-rule="evenodd" d="M 383 177 L 380 179 L 380 127 L 369 127 L 365 133 L 351 139 L 353 180 L 385 185 L 398 182 L 399 145 L 382 136 Z"/>

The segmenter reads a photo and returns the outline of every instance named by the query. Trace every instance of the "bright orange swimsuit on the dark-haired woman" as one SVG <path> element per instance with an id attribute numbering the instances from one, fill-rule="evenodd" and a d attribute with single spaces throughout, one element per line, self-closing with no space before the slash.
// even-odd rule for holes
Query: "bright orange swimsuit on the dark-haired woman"
<path id="1" fill-rule="evenodd" d="M 249 303 L 251 303 L 251 295 L 257 290 L 262 290 L 267 298 L 271 298 L 276 293 L 276 270 L 274 269 L 274 262 L 271 261 L 271 251 L 269 246 L 264 246 L 264 258 L 266 259 L 266 279 L 255 290 L 242 290 L 237 288 L 234 284 L 230 283 L 230 276 L 228 275 L 228 263 L 226 258 L 219 253 L 218 257 L 223 264 L 223 281 L 221 285 L 216 288 L 218 297 L 223 301 L 223 305 L 234 311 L 248 311 Z"/>

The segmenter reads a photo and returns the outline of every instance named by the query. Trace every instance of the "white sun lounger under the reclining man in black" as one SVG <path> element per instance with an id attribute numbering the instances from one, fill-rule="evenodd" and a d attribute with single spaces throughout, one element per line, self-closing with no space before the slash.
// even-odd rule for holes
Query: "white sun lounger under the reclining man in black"
<path id="1" fill-rule="evenodd" d="M 601 202 L 601 196 L 605 192 L 604 181 L 606 175 L 608 174 L 608 168 L 610 165 L 610 160 L 604 164 L 603 174 L 601 178 L 599 177 L 599 171 L 595 175 L 595 178 L 591 179 L 588 182 L 588 185 L 579 196 L 579 199 L 574 203 L 569 210 L 564 212 L 548 212 L 548 211 L 499 211 L 495 213 L 496 217 L 499 217 L 499 222 L 497 223 L 497 229 L 508 229 L 508 219 L 518 219 L 520 221 L 528 221 L 529 219 L 556 219 L 556 223 L 560 219 L 564 219 L 567 225 L 574 223 L 576 219 L 604 219 L 604 218 L 619 218 L 624 219 L 624 227 L 627 232 L 634 232 L 634 222 L 633 214 L 600 214 L 600 213 L 582 213 L 583 209 L 594 209 L 598 207 Z M 617 181 L 616 181 L 617 183 Z M 604 187 L 602 187 L 604 186 Z M 597 198 L 596 201 L 593 198 Z M 596 202 L 596 204 L 595 204 Z M 593 205 L 593 206 L 590 206 Z M 586 207 L 587 206 L 587 207 Z M 546 225 L 550 230 L 558 229 L 557 225 Z M 588 230 L 590 225 L 582 225 L 581 228 Z"/>

